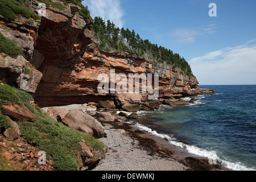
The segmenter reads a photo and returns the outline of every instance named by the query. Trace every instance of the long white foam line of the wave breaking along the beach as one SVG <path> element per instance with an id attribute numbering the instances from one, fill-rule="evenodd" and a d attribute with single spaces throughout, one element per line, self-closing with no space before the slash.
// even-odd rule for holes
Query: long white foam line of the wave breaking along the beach
<path id="1" fill-rule="evenodd" d="M 168 140 L 168 142 L 170 142 L 171 144 L 174 144 L 175 146 L 184 148 L 185 150 L 187 150 L 191 154 L 203 156 L 205 158 L 208 158 L 209 160 L 216 161 L 216 162 L 222 164 L 223 166 L 225 166 L 229 169 L 232 169 L 234 171 L 255 171 L 255 169 L 248 168 L 240 162 L 232 163 L 232 162 L 228 162 L 228 160 L 220 159 L 217 156 L 215 151 L 208 151 L 208 150 L 205 150 L 203 148 L 199 148 L 199 147 L 196 147 L 196 146 L 193 146 L 193 145 L 188 145 L 188 144 L 178 142 L 174 137 L 171 137 L 170 135 L 159 134 L 156 131 L 148 128 L 147 126 L 141 125 L 139 123 L 135 123 L 135 126 L 137 126 L 141 130 L 147 131 L 151 135 L 156 135 L 158 137 L 164 138 L 164 139 Z"/>

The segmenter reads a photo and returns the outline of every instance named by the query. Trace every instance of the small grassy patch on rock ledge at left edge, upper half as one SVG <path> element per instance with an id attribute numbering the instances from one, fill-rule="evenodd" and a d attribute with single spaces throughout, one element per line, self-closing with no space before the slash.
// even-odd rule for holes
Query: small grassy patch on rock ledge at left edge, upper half
<path id="1" fill-rule="evenodd" d="M 1 0 L 0 0 L 1 1 Z M 13 40 L 10 40 L 0 33 L 0 52 L 6 53 L 11 57 L 23 55 L 22 49 L 20 49 Z"/>

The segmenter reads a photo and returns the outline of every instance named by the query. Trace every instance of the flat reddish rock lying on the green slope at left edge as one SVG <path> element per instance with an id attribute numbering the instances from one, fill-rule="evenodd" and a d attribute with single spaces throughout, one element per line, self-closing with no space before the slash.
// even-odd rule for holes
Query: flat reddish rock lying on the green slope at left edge
<path id="1" fill-rule="evenodd" d="M 14 118 L 16 121 L 35 121 L 36 115 L 31 113 L 31 111 L 26 106 L 19 105 L 3 105 L 1 106 L 2 113 L 8 115 L 10 118 Z"/>

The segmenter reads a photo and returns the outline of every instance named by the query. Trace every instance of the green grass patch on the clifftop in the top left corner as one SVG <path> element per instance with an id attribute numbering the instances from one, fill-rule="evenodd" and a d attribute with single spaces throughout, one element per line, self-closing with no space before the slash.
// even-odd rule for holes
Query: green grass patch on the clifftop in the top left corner
<path id="1" fill-rule="evenodd" d="M 6 19 L 15 20 L 18 14 L 40 20 L 39 16 L 23 5 L 26 0 L 0 0 L 0 14 Z"/>

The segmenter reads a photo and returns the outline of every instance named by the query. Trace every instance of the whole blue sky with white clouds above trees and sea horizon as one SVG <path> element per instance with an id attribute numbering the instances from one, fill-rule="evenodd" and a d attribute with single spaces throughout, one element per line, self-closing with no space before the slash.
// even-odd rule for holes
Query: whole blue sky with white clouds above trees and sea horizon
<path id="1" fill-rule="evenodd" d="M 256 84 L 254 0 L 85 0 L 91 15 L 135 30 L 191 65 L 201 85 Z M 210 3 L 217 17 L 210 17 Z"/>

